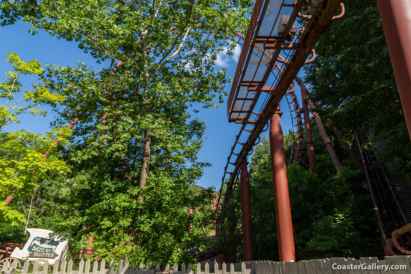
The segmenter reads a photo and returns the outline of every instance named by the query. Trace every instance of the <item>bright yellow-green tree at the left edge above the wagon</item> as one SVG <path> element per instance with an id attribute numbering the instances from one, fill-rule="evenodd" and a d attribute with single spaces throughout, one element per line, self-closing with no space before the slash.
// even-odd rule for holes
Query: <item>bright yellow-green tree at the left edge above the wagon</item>
<path id="1" fill-rule="evenodd" d="M 0 216 L 12 226 L 17 226 L 25 221 L 25 216 L 12 207 L 7 207 L 4 202 L 7 196 L 27 198 L 33 189 L 39 185 L 39 180 L 48 178 L 50 174 L 63 174 L 69 171 L 65 163 L 55 156 L 53 152 L 57 146 L 55 140 L 65 143 L 65 136 L 70 132 L 66 127 L 55 127 L 45 136 L 33 134 L 25 130 L 6 133 L 3 127 L 12 123 L 19 123 L 18 115 L 29 113 L 35 117 L 45 116 L 39 106 L 42 104 L 54 105 L 62 103 L 64 97 L 50 92 L 46 82 L 33 83 L 32 89 L 22 92 L 21 75 L 44 74 L 37 60 L 24 62 L 15 53 L 7 53 L 7 62 L 12 64 L 14 71 L 6 73 L 4 82 L 0 82 Z M 15 95 L 21 96 L 16 99 Z M 27 103 L 21 106 L 21 101 Z M 48 158 L 44 157 L 47 154 Z"/>

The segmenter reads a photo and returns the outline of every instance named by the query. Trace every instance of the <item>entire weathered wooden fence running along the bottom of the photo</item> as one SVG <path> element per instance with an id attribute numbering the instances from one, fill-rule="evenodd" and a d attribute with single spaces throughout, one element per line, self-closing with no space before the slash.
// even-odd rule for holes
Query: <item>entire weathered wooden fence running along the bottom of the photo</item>
<path id="1" fill-rule="evenodd" d="M 221 269 L 217 262 L 206 261 L 205 263 L 197 263 L 196 271 L 193 272 L 193 265 L 190 263 L 186 268 L 183 263 L 179 271 L 177 263 L 173 264 L 173 269 L 166 264 L 162 268 L 159 264 L 151 269 L 150 264 L 144 266 L 142 263 L 136 267 L 134 263 L 130 265 L 129 261 L 123 262 L 120 260 L 115 264 L 114 260 L 110 261 L 109 268 L 106 269 L 106 261 L 101 262 L 90 260 L 79 262 L 78 267 L 74 267 L 73 260 L 63 260 L 60 265 L 49 265 L 48 261 L 25 261 L 21 269 L 17 269 L 18 263 L 16 260 L 9 265 L 5 262 L 1 274 L 156 274 L 158 271 L 169 271 L 169 274 L 398 274 L 410 273 L 411 271 L 411 256 L 394 256 L 386 257 L 386 260 L 378 260 L 375 257 L 364 257 L 359 260 L 353 258 L 331 258 L 321 260 L 308 260 L 299 262 L 272 262 L 272 261 L 252 261 L 226 265 L 222 264 Z M 343 269 L 353 265 L 372 266 L 372 269 Z M 387 269 L 393 265 L 404 265 L 406 269 Z M 67 267 L 66 267 L 67 266 Z M 99 268 L 100 266 L 100 268 Z M 339 269 L 336 266 L 341 266 Z M 73 269 L 73 267 L 75 269 Z M 92 267 L 92 269 L 90 269 Z M 117 267 L 117 270 L 115 268 Z M 381 267 L 384 269 L 381 270 Z M 379 269 L 380 268 L 380 269 Z M 60 269 L 60 271 L 59 271 Z M 91 270 L 91 272 L 90 272 Z M 204 270 L 204 271 L 202 271 Z M 30 272 L 31 271 L 31 272 Z"/>

